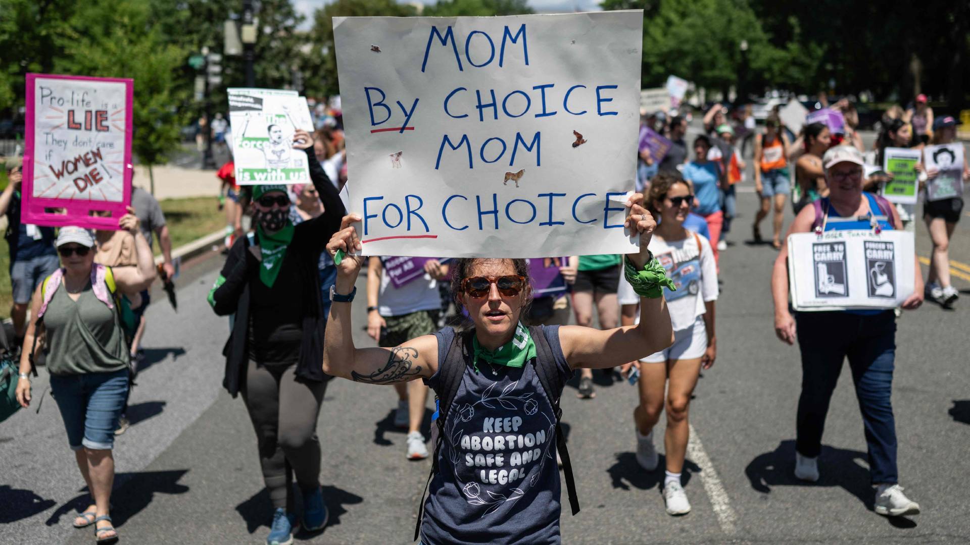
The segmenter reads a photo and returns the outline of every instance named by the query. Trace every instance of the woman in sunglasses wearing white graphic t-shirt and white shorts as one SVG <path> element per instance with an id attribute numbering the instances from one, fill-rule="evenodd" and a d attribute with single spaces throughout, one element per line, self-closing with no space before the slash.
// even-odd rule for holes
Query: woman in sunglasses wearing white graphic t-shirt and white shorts
<path id="1" fill-rule="evenodd" d="M 650 251 L 660 260 L 677 288 L 676 291 L 663 291 L 674 342 L 668 348 L 624 366 L 624 374 L 631 367 L 640 371 L 640 401 L 633 409 L 633 422 L 636 426 L 636 462 L 647 471 L 655 470 L 660 462 L 653 431 L 661 412 L 666 409 L 663 501 L 670 515 L 685 515 L 691 511 L 691 503 L 681 484 L 691 433 L 688 412 L 700 370 L 710 369 L 717 357 L 714 330 L 717 266 L 710 242 L 684 228 L 692 201 L 694 195 L 690 185 L 675 176 L 658 176 L 650 187 L 646 208 L 661 218 L 650 240 Z M 619 297 L 621 305 L 635 307 L 639 303 L 629 282 L 621 282 Z"/>

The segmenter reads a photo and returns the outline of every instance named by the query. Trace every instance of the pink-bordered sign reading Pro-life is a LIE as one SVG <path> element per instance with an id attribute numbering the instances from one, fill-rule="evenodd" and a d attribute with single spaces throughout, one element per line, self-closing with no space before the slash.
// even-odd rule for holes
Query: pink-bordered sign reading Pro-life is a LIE
<path id="1" fill-rule="evenodd" d="M 131 203 L 133 103 L 134 80 L 27 74 L 20 221 L 118 228 Z"/>

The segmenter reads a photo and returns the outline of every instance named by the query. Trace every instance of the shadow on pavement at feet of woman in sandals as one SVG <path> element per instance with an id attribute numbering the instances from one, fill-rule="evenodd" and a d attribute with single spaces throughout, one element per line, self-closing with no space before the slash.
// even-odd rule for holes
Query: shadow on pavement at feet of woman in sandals
<path id="1" fill-rule="evenodd" d="M 124 526 L 128 519 L 140 513 L 151 503 L 156 493 L 185 494 L 188 492 L 187 486 L 178 484 L 178 480 L 187 472 L 188 469 L 175 469 L 171 471 L 115 474 L 114 491 L 112 493 L 112 522 L 114 527 Z M 67 514 L 70 514 L 73 519 L 74 513 L 87 507 L 90 501 L 91 497 L 87 493 L 87 487 L 84 487 L 78 497 L 74 497 L 58 507 L 45 524 L 54 526 L 60 522 L 61 516 Z"/>

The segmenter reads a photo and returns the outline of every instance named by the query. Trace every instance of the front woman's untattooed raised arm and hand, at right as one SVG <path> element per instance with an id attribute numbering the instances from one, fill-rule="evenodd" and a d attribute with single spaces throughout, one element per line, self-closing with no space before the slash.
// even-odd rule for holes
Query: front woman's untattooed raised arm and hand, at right
<path id="1" fill-rule="evenodd" d="M 643 269 L 652 255 L 647 249 L 657 222 L 646 208 L 641 206 L 643 195 L 630 197 L 630 208 L 624 226 L 640 234 L 640 251 L 628 254 L 637 271 Z M 563 354 L 572 369 L 604 369 L 622 366 L 663 350 L 673 343 L 673 328 L 667 311 L 663 292 L 657 298 L 640 298 L 640 323 L 606 331 L 581 326 L 563 326 L 559 329 Z"/>

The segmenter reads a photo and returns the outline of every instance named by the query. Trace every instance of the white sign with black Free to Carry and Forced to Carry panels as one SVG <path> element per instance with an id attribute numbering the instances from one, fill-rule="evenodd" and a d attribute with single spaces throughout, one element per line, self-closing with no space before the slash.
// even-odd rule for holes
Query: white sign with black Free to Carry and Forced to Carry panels
<path id="1" fill-rule="evenodd" d="M 827 231 L 789 236 L 795 310 L 894 308 L 913 294 L 913 233 Z"/>

